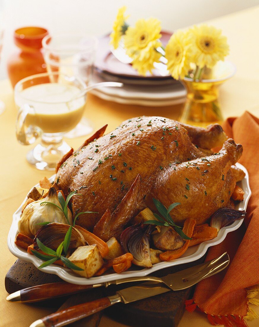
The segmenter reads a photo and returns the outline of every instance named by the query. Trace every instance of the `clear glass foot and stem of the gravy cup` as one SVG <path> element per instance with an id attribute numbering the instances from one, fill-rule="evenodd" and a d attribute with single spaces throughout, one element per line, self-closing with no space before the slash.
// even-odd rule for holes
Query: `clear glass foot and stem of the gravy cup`
<path id="1" fill-rule="evenodd" d="M 41 142 L 30 150 L 26 159 L 39 170 L 55 170 L 56 163 L 70 150 L 62 135 L 43 134 Z"/>

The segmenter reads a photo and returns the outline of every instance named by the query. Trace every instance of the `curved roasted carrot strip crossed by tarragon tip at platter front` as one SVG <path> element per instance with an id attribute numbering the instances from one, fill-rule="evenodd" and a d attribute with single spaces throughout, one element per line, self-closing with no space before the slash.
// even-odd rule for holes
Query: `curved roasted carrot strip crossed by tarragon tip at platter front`
<path id="1" fill-rule="evenodd" d="M 196 223 L 196 220 L 194 220 L 192 218 L 188 218 L 185 220 L 184 225 L 183 225 L 183 232 L 188 237 L 191 237 L 193 230 L 194 230 L 195 223 Z M 184 254 L 184 252 L 188 249 L 189 245 L 190 245 L 190 240 L 186 240 L 184 245 L 180 249 L 160 253 L 159 257 L 163 261 L 177 259 L 182 254 Z"/>

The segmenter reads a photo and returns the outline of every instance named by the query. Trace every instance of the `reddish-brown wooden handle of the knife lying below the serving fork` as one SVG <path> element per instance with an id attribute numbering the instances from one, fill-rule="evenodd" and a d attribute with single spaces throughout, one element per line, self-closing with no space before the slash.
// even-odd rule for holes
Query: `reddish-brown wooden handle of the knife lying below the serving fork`
<path id="1" fill-rule="evenodd" d="M 83 304 L 74 305 L 67 309 L 57 311 L 49 316 L 41 318 L 46 327 L 60 327 L 68 325 L 94 314 L 112 305 L 108 297 Z"/>

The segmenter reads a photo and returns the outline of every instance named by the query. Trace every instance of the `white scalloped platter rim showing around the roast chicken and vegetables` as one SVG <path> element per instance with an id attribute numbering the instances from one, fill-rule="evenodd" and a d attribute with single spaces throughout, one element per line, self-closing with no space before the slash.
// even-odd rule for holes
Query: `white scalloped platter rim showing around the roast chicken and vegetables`
<path id="1" fill-rule="evenodd" d="M 245 178 L 241 182 L 238 182 L 238 185 L 244 190 L 245 195 L 244 195 L 244 200 L 236 205 L 236 209 L 246 210 L 248 200 L 251 196 L 251 190 L 249 187 L 249 180 L 248 180 L 248 172 L 247 172 L 246 168 L 244 166 L 242 166 L 240 163 L 236 163 L 236 166 L 241 168 L 246 174 Z M 53 180 L 53 177 L 50 180 Z M 39 185 L 36 185 L 36 186 L 39 186 Z M 23 203 L 25 201 L 26 201 L 26 198 L 24 199 Z M 13 215 L 13 222 L 12 222 L 10 231 L 8 233 L 8 240 L 7 240 L 8 249 L 17 258 L 32 262 L 36 267 L 39 267 L 42 264 L 42 260 L 38 259 L 34 255 L 29 254 L 26 250 L 19 248 L 14 243 L 15 237 L 18 233 L 18 220 L 20 219 L 20 216 L 21 216 L 23 203 L 21 204 L 21 206 L 17 209 L 17 211 Z M 106 274 L 106 275 L 99 276 L 99 277 L 91 277 L 88 279 L 84 278 L 84 277 L 79 277 L 78 275 L 73 273 L 72 270 L 70 270 L 68 268 L 58 267 L 55 265 L 50 265 L 48 267 L 42 268 L 41 270 L 44 272 L 50 273 L 50 274 L 56 274 L 66 282 L 69 282 L 72 284 L 80 284 L 80 285 L 99 284 L 99 283 L 104 283 L 104 282 L 113 281 L 116 279 L 127 278 L 127 277 L 146 276 L 156 270 L 160 270 L 160 269 L 163 269 L 166 267 L 181 265 L 181 264 L 185 264 L 187 262 L 192 262 L 192 261 L 198 260 L 206 253 L 206 250 L 209 247 L 221 243 L 224 240 L 224 238 L 226 237 L 227 233 L 235 231 L 237 228 L 239 228 L 241 226 L 243 220 L 244 219 L 236 220 L 231 225 L 221 228 L 221 230 L 219 231 L 218 236 L 216 238 L 188 248 L 187 251 L 180 258 L 172 260 L 172 261 L 160 262 L 158 264 L 153 265 L 153 267 L 151 267 L 151 268 L 138 269 L 137 267 L 134 266 L 132 268 L 135 268 L 136 270 L 128 270 L 121 274 L 110 273 L 110 274 Z"/>

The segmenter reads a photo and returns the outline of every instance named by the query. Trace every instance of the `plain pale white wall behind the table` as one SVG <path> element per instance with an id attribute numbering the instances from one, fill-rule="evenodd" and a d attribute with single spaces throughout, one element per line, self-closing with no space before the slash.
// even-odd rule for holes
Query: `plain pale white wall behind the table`
<path id="1" fill-rule="evenodd" d="M 0 0 L 0 24 L 5 29 L 0 78 L 7 77 L 6 61 L 14 51 L 12 34 L 18 27 L 98 36 L 111 30 L 117 9 L 126 5 L 129 22 L 154 16 L 163 29 L 175 30 L 258 4 L 259 0 Z"/>

